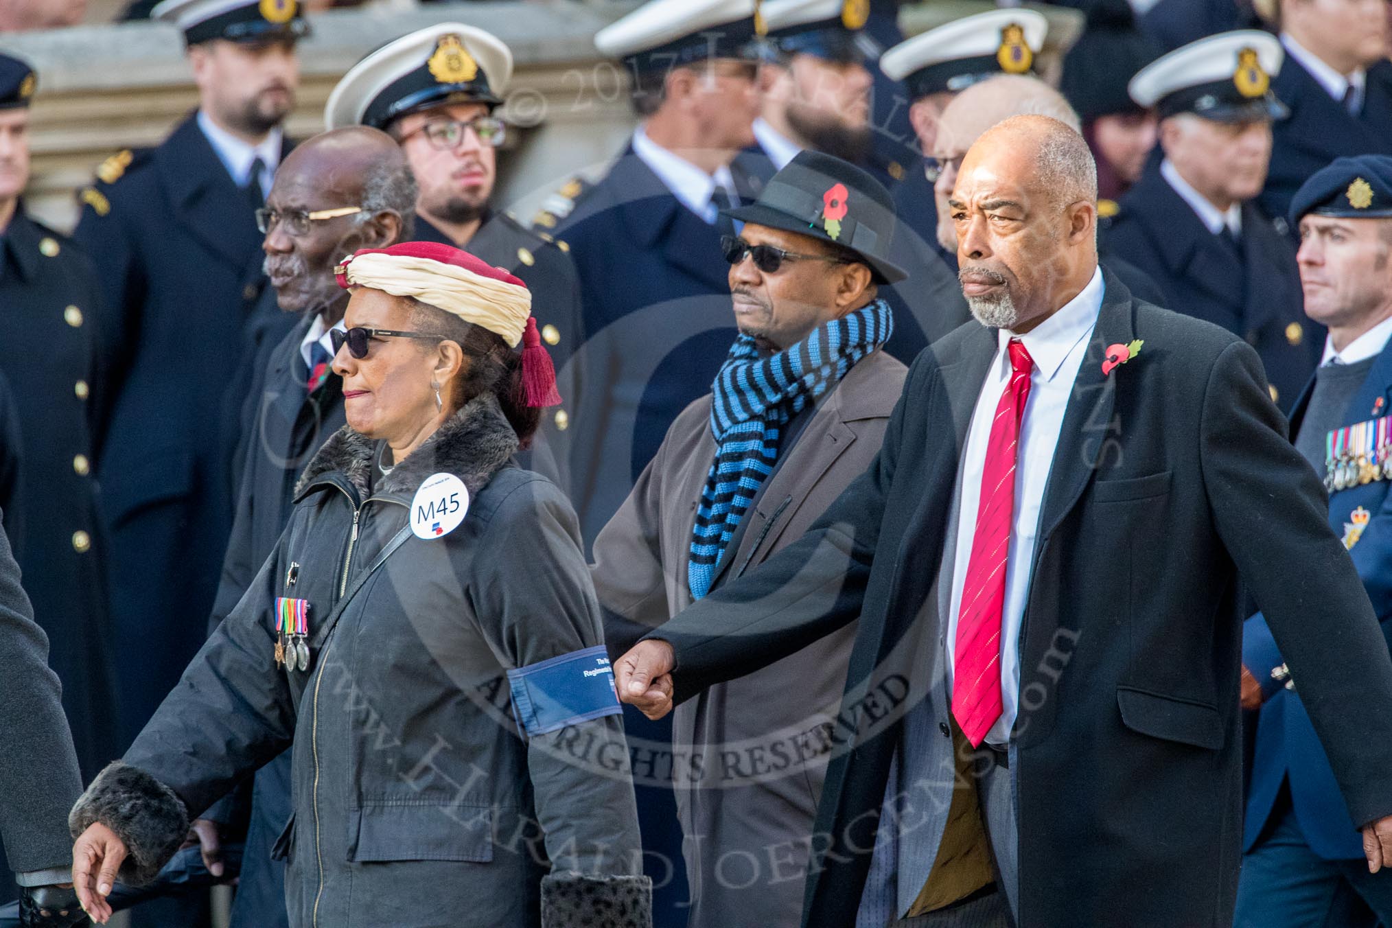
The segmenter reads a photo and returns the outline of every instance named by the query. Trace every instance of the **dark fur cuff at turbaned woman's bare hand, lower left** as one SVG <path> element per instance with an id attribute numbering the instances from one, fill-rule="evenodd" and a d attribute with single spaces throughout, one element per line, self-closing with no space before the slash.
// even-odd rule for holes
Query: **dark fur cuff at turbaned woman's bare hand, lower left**
<path id="1" fill-rule="evenodd" d="M 131 886 L 155 879 L 188 835 L 188 810 L 174 790 L 121 761 L 107 764 L 68 813 L 74 838 L 92 822 L 125 842 L 129 857 L 117 875 Z"/>

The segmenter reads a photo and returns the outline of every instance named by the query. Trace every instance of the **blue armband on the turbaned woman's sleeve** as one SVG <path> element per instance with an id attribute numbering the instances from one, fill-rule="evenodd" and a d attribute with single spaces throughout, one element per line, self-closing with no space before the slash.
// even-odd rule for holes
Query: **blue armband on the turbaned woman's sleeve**
<path id="1" fill-rule="evenodd" d="M 508 686 L 526 737 L 624 712 L 603 644 L 508 671 Z"/>

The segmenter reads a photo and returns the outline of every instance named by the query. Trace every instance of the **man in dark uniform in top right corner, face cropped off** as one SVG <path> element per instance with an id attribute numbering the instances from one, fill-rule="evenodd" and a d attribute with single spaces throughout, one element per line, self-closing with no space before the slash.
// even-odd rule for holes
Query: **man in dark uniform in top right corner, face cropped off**
<path id="1" fill-rule="evenodd" d="M 1290 109 L 1272 127 L 1275 146 L 1261 206 L 1285 216 L 1296 188 L 1343 154 L 1392 154 L 1392 42 L 1386 4 L 1282 0 L 1286 50 L 1271 89 Z"/>

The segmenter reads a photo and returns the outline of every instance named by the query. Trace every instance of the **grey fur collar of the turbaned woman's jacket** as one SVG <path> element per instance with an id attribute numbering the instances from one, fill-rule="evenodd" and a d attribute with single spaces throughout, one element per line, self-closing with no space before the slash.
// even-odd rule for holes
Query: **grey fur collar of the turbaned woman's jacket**
<path id="1" fill-rule="evenodd" d="M 342 473 L 363 495 L 373 466 L 377 440 L 344 426 L 319 449 L 295 486 L 295 495 L 326 473 Z M 470 494 L 482 490 L 493 474 L 516 454 L 518 435 L 503 415 L 493 394 L 480 394 L 444 424 L 377 484 L 380 493 L 411 494 L 434 473 L 452 473 Z"/>

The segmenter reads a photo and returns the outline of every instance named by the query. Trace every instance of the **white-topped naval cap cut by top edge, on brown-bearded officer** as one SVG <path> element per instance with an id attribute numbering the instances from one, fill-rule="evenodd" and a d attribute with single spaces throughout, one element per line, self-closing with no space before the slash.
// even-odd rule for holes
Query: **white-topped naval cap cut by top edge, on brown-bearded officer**
<path id="1" fill-rule="evenodd" d="M 756 6 L 754 32 L 767 57 L 810 54 L 824 61 L 864 63 L 883 51 L 864 31 L 870 0 L 768 0 Z"/>

